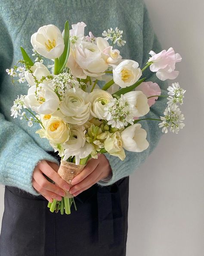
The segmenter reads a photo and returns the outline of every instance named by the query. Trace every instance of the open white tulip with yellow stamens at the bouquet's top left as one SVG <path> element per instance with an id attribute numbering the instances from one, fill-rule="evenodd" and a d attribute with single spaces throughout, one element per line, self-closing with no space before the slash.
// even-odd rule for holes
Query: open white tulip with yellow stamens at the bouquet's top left
<path id="1" fill-rule="evenodd" d="M 31 44 L 40 55 L 48 59 L 59 58 L 65 48 L 62 33 L 54 25 L 40 27 L 31 36 Z"/>

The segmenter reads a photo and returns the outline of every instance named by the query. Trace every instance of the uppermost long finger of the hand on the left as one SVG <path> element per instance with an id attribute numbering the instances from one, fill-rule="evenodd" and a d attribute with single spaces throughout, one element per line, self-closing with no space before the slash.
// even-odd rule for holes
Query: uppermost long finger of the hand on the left
<path id="1" fill-rule="evenodd" d="M 60 188 L 69 190 L 70 186 L 67 182 L 65 182 L 58 173 L 56 173 L 55 170 L 46 161 L 42 161 L 39 164 L 39 169 L 42 173 L 44 173 L 46 176 L 48 176 L 50 179 L 52 179 Z M 50 183 L 50 182 L 49 182 Z"/>

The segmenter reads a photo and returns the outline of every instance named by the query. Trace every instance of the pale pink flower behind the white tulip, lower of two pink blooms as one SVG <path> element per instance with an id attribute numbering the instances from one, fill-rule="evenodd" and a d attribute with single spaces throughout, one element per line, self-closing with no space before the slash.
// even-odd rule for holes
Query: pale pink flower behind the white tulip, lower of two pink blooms
<path id="1" fill-rule="evenodd" d="M 154 95 L 161 95 L 161 89 L 158 86 L 157 83 L 152 82 L 143 82 L 139 86 L 136 87 L 136 91 L 142 91 L 147 98 Z M 152 97 L 148 99 L 148 105 L 151 107 L 155 104 L 155 100 L 158 99 L 158 97 Z"/>

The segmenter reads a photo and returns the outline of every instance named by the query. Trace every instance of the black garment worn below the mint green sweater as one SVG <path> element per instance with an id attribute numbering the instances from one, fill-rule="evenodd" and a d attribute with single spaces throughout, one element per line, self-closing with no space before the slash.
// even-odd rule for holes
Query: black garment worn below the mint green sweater
<path id="1" fill-rule="evenodd" d="M 0 256 L 125 256 L 128 194 L 129 177 L 95 184 L 61 215 L 43 196 L 5 186 Z"/>

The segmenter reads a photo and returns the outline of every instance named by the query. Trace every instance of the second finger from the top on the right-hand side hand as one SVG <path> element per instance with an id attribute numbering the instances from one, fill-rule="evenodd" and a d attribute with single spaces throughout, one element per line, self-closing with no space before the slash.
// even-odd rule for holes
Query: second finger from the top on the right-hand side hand
<path id="1" fill-rule="evenodd" d="M 77 183 L 75 186 L 73 186 L 69 192 L 71 194 L 74 194 L 78 191 L 84 191 L 86 190 L 87 187 L 93 186 L 98 180 L 100 180 L 101 173 L 98 172 L 97 168 L 90 174 L 88 175 L 85 179 L 83 179 L 81 182 Z"/>

